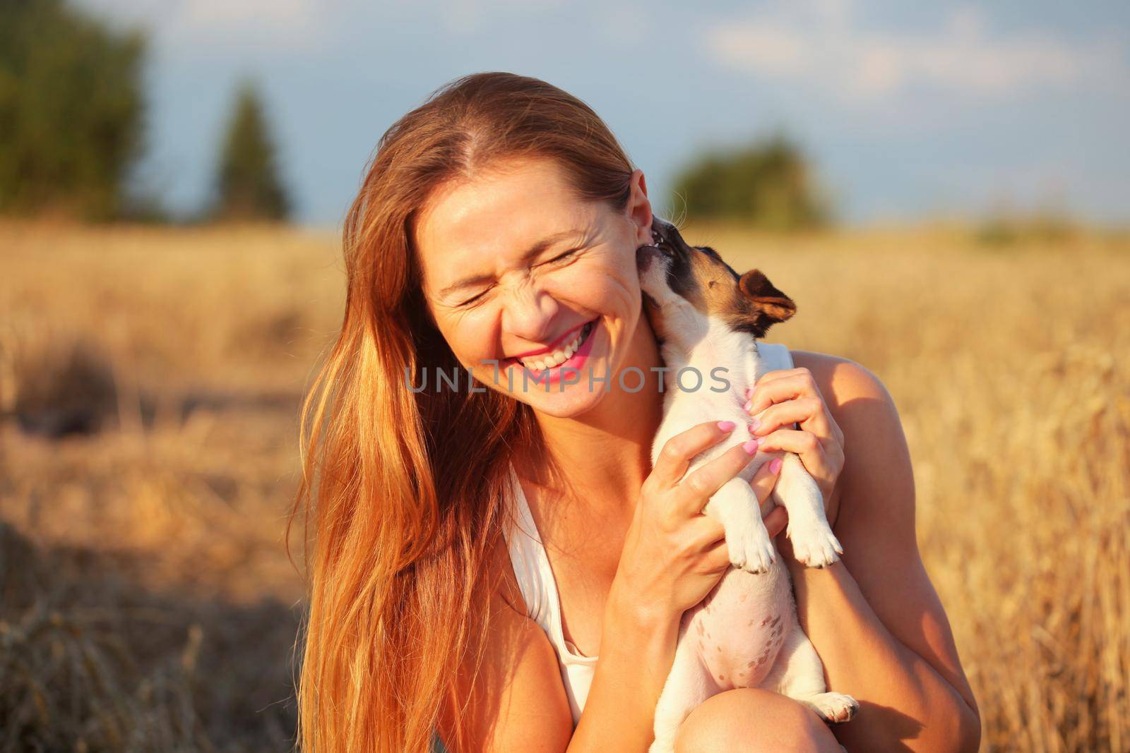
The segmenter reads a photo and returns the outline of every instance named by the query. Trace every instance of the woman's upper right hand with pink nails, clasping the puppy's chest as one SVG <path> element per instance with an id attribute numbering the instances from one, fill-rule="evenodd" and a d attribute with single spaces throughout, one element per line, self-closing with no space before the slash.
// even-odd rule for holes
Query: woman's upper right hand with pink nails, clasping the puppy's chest
<path id="1" fill-rule="evenodd" d="M 800 456 L 824 496 L 828 525 L 835 525 L 840 505 L 832 499 L 832 490 L 844 466 L 844 432 L 824 404 L 812 373 L 807 368 L 767 371 L 746 396 L 746 412 L 754 417 L 749 432 L 760 440 L 760 452 Z"/>

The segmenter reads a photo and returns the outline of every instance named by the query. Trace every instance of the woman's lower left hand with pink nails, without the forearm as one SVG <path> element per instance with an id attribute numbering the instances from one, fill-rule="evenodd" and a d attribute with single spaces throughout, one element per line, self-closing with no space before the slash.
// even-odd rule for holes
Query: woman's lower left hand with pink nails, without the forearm
<path id="1" fill-rule="evenodd" d="M 702 510 L 757 452 L 754 440 L 734 445 L 683 479 L 690 461 L 734 430 L 732 421 L 699 423 L 663 445 L 644 480 L 612 588 L 643 614 L 671 620 L 710 593 L 730 567 L 725 531 Z M 776 474 L 764 463 L 750 479 L 763 504 Z M 683 479 L 680 481 L 680 479 Z M 784 528 L 783 509 L 765 518 L 771 536 Z"/>

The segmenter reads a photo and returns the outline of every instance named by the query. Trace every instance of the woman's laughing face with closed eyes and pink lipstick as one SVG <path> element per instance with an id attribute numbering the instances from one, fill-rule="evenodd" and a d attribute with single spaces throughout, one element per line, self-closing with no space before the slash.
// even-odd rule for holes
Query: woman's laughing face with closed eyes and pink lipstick
<path id="1" fill-rule="evenodd" d="M 641 323 L 635 251 L 651 243 L 651 219 L 640 170 L 623 212 L 577 196 L 551 159 L 442 185 L 415 227 L 436 326 L 487 387 L 580 415 L 616 388 Z"/>

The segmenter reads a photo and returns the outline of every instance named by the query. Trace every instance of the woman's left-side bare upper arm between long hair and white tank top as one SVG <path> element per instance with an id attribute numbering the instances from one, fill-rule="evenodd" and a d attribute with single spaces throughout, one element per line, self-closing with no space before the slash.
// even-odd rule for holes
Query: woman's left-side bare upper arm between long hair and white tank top
<path id="1" fill-rule="evenodd" d="M 466 711 L 468 751 L 564 751 L 573 734 L 557 656 L 541 628 L 525 614 L 505 546 L 492 557 L 499 587 L 489 603 L 489 630 L 479 672 L 473 657 L 458 671 L 455 702 Z M 472 675 L 475 675 L 472 677 Z M 440 737 L 451 753 L 457 744 L 453 704 L 444 703 Z"/>

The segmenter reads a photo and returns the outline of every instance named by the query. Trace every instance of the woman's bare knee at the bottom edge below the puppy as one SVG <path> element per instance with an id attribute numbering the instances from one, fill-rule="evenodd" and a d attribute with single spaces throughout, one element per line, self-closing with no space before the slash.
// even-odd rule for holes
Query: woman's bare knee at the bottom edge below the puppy
<path id="1" fill-rule="evenodd" d="M 756 689 L 713 695 L 690 712 L 675 741 L 676 753 L 712 751 L 840 753 L 840 743 L 808 707 Z"/>

